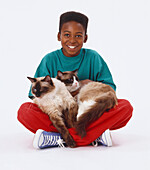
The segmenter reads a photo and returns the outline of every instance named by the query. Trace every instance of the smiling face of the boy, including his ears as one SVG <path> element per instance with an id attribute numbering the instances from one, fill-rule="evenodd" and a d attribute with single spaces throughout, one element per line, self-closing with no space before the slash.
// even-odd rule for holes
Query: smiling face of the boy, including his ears
<path id="1" fill-rule="evenodd" d="M 67 57 L 77 56 L 86 40 L 83 26 L 75 21 L 64 23 L 58 33 L 58 41 L 61 41 L 63 54 Z"/>

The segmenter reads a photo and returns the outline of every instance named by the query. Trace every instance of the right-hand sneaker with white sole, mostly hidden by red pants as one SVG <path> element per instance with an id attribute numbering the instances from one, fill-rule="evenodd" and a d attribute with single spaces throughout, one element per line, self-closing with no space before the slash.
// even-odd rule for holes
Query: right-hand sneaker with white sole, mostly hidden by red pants
<path id="1" fill-rule="evenodd" d="M 107 129 L 101 136 L 99 136 L 94 142 L 92 142 L 93 146 L 112 146 L 112 139 L 109 129 Z"/>

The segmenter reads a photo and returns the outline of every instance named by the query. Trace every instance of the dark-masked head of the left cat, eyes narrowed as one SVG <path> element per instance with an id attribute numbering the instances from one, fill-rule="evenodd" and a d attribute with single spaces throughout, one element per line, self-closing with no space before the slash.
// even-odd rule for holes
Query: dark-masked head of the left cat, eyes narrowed
<path id="1" fill-rule="evenodd" d="M 51 77 L 48 75 L 46 77 L 31 78 L 27 77 L 32 83 L 32 94 L 35 97 L 42 97 L 44 94 L 51 92 L 55 89 L 54 83 Z"/>

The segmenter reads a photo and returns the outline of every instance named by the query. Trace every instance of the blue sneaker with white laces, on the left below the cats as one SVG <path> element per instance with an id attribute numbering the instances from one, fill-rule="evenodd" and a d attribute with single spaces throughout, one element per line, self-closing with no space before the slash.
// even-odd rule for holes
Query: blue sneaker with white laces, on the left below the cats
<path id="1" fill-rule="evenodd" d="M 46 132 L 38 129 L 33 139 L 33 147 L 35 149 L 44 149 L 49 147 L 65 147 L 60 133 Z"/>

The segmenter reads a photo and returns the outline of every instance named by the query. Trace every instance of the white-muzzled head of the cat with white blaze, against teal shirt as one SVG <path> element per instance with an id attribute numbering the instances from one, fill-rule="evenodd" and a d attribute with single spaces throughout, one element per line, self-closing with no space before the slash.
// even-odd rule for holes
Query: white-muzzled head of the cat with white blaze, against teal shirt
<path id="1" fill-rule="evenodd" d="M 58 71 L 56 78 L 66 85 L 69 92 L 76 91 L 80 87 L 77 70 L 65 72 Z"/>

